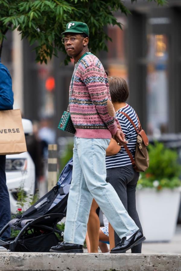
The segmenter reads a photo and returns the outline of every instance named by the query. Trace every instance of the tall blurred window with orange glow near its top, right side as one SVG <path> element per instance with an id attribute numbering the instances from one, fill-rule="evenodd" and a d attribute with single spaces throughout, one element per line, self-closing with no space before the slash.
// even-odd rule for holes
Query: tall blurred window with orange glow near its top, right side
<path id="1" fill-rule="evenodd" d="M 168 131 L 168 37 L 148 35 L 147 129 L 159 136 Z"/>

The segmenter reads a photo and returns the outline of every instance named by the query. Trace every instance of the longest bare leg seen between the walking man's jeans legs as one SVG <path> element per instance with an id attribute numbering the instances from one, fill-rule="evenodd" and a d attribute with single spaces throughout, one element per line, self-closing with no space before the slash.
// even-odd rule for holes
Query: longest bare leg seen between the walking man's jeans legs
<path id="1" fill-rule="evenodd" d="M 98 253 L 98 245 L 99 245 L 99 229 L 100 229 L 100 221 L 97 216 L 96 210 L 99 206 L 97 202 L 93 199 L 92 205 L 90 208 L 89 220 L 87 223 L 87 232 L 90 241 L 90 252 Z"/>

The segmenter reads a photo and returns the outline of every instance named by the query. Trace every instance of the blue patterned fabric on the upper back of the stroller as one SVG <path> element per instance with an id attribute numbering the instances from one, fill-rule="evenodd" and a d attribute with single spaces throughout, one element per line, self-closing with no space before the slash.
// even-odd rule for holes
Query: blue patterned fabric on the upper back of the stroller
<path id="1" fill-rule="evenodd" d="M 53 201 L 52 205 L 50 206 L 49 210 L 56 206 L 69 192 L 70 184 L 72 180 L 72 168 L 73 168 L 73 158 L 71 158 L 68 163 L 65 165 L 64 169 L 62 170 L 59 176 L 59 188 L 63 187 L 64 195 L 58 195 L 56 199 Z"/>

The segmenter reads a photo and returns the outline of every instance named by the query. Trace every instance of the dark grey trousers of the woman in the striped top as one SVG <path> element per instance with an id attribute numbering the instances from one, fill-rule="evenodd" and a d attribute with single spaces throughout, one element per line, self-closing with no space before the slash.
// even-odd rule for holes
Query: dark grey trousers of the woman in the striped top
<path id="1" fill-rule="evenodd" d="M 139 172 L 135 172 L 132 165 L 107 169 L 106 181 L 109 182 L 116 190 L 122 204 L 128 211 L 129 216 L 142 232 L 141 223 L 136 211 L 136 185 L 139 178 Z M 110 221 L 111 223 L 111 221 Z M 119 236 L 114 232 L 115 245 L 120 241 Z M 141 253 L 141 244 L 132 247 L 132 253 Z"/>

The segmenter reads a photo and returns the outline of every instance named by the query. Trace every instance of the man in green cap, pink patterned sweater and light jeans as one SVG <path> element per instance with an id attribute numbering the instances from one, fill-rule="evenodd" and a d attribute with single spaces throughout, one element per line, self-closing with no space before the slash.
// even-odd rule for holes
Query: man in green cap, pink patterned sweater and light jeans
<path id="1" fill-rule="evenodd" d="M 116 253 L 144 241 L 144 236 L 128 215 L 113 187 L 106 183 L 106 148 L 111 137 L 122 145 L 110 101 L 109 83 L 100 60 L 88 50 L 89 29 L 82 22 L 70 22 L 62 43 L 75 61 L 70 84 L 70 114 L 76 129 L 73 174 L 69 191 L 64 242 L 52 252 L 83 252 L 87 221 L 93 198 L 122 238 Z M 123 238 L 124 237 L 124 238 Z M 113 251 L 114 253 L 114 251 Z"/>

